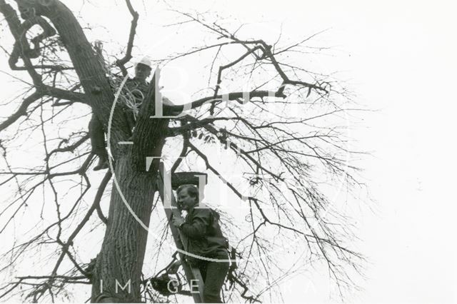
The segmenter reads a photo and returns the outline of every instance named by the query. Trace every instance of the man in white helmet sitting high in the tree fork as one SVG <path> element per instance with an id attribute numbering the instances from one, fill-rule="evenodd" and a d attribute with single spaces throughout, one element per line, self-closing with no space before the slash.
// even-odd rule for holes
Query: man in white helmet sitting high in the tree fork
<path id="1" fill-rule="evenodd" d="M 148 93 L 149 83 L 146 81 L 146 78 L 151 75 L 151 71 L 151 60 L 144 57 L 135 66 L 135 77 L 129 78 L 123 88 L 123 93 L 125 93 L 126 96 L 133 97 L 130 98 L 132 101 L 130 101 L 129 98 L 124 98 L 126 102 L 121 103 L 130 130 L 133 130 L 136 124 L 136 114 L 139 111 L 141 102 Z M 129 102 L 127 103 L 127 101 Z M 166 98 L 164 98 L 163 102 L 164 104 L 173 105 L 173 103 Z M 89 136 L 91 138 L 92 152 L 99 156 L 99 163 L 94 167 L 94 171 L 109 167 L 104 133 L 103 125 L 96 116 L 92 115 L 91 121 L 89 122 Z"/>

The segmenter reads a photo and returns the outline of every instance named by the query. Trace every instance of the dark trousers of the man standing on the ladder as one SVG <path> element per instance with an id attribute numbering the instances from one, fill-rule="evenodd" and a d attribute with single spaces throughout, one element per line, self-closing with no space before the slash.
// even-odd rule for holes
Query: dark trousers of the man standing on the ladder
<path id="1" fill-rule="evenodd" d="M 219 258 L 227 260 L 229 256 L 221 256 Z M 203 293 L 204 303 L 223 303 L 221 300 L 221 288 L 229 272 L 229 265 L 229 262 L 200 261 L 199 270 L 205 285 Z"/>

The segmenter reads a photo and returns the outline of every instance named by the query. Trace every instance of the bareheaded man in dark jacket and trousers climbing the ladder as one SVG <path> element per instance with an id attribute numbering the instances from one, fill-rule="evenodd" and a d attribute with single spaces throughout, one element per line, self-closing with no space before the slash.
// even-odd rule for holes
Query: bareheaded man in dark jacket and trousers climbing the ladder
<path id="1" fill-rule="evenodd" d="M 188 238 L 188 252 L 202 257 L 189 256 L 186 260 L 200 270 L 205 286 L 203 301 L 222 303 L 221 288 L 229 272 L 229 243 L 221 232 L 219 214 L 199 206 L 199 189 L 194 185 L 180 186 L 176 193 L 178 207 L 187 215 L 185 219 L 174 217 L 173 223 Z"/>

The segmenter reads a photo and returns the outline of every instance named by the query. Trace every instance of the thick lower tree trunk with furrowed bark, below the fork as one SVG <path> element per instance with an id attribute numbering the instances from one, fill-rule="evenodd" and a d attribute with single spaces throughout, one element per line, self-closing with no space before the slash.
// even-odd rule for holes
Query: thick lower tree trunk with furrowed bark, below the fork
<path id="1" fill-rule="evenodd" d="M 149 226 L 156 175 L 135 171 L 128 157 L 116 161 L 115 173 L 126 202 L 113 186 L 105 238 L 96 258 L 91 301 L 139 302 L 148 231 L 130 213 L 126 203 L 144 226 Z"/>

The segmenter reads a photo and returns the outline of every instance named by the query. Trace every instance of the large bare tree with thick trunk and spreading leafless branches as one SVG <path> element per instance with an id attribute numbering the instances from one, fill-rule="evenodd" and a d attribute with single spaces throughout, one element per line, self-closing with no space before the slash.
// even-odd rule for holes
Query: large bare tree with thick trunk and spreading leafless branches
<path id="1" fill-rule="evenodd" d="M 0 123 L 6 164 L 0 185 L 14 189 L 2 204 L 0 233 L 6 233 L 31 204 L 41 202 L 46 211 L 34 213 L 41 222 L 39 229 L 6 251 L 2 270 L 13 271 L 33 250 L 54 248 L 54 252 L 46 257 L 46 264 L 53 265 L 50 273 L 15 278 L 1 288 L 0 298 L 19 293 L 34 301 L 54 300 L 64 297 L 70 285 L 91 284 L 94 302 L 164 300 L 141 288 L 146 280 L 142 271 L 148 232 L 122 197 L 144 226 L 164 228 L 161 242 L 153 244 L 158 257 L 170 237 L 164 221 L 158 222 L 161 213 L 154 212 L 159 163 L 153 161 L 145 169 L 145 159 L 164 156 L 164 146 L 170 143 L 181 146 L 182 157 L 172 171 L 195 170 L 198 160 L 203 161 L 208 173 L 221 178 L 247 207 L 247 232 L 231 227 L 229 214 L 223 217 L 226 228 L 238 237 L 232 245 L 241 258 L 238 270 L 229 275 L 226 300 L 261 300 L 263 293 L 293 273 L 269 254 L 285 244 L 302 251 L 303 262 L 326 265 L 339 288 L 353 285 L 353 270 L 359 272 L 363 258 L 349 248 L 347 242 L 353 238 L 350 223 L 331 208 L 328 197 L 338 191 L 340 183 L 346 188 L 361 186 L 354 176 L 358 169 L 347 163 L 346 158 L 355 152 L 346 146 L 346 126 L 338 124 L 355 109 L 351 108 L 351 94 L 331 75 L 313 73 L 286 60 L 291 52 L 306 56 L 303 47 L 311 37 L 287 46 L 280 41 L 271 45 L 262 39 L 243 39 L 238 31 L 203 16 L 176 12 L 181 20 L 177 24 L 201 25 L 214 43 L 189 47 L 184 53 L 157 59 L 157 64 L 198 54 L 211 56 L 209 87 L 202 88 L 201 96 L 189 104 L 164 105 L 165 113 L 186 109 L 183 115 L 151 119 L 159 88 L 150 86 L 132 134 L 122 108 L 114 106 L 111 113 L 132 58 L 139 20 L 130 1 L 126 0 L 132 16 L 126 51 L 114 61 L 110 60 L 113 54 L 103 56 L 101 46 L 88 41 L 78 19 L 61 1 L 9 2 L 0 0 L 0 12 L 15 42 L 2 47 L 9 54 L 11 70 L 19 77 L 25 71 L 30 80 L 24 80 L 25 93 L 8 103 L 17 105 L 16 111 Z M 33 36 L 31 29 L 36 26 L 40 34 Z M 243 89 L 239 89 L 240 83 Z M 89 174 L 94 158 L 89 135 L 74 123 L 86 121 L 90 112 L 110 131 L 113 173 L 121 190 L 112 187 L 107 216 L 100 202 L 111 171 L 101 181 Z M 59 137 L 51 138 L 49 134 L 56 130 Z M 44 161 L 35 168 L 10 166 L 14 148 L 26 138 L 39 138 L 41 150 L 36 153 Z M 118 144 L 130 140 L 133 145 Z M 220 144 L 236 156 L 243 183 L 229 181 L 211 160 L 211 151 Z M 93 184 L 96 191 L 91 191 Z M 88 200 L 91 203 L 84 208 Z M 50 205 L 54 206 L 52 213 Z M 151 216 L 154 221 L 150 223 Z M 105 233 L 99 254 L 91 262 L 81 260 L 78 250 L 84 240 L 100 229 Z M 249 290 L 250 282 L 258 278 L 264 278 L 268 287 Z M 126 285 L 130 290 L 120 288 Z"/>

